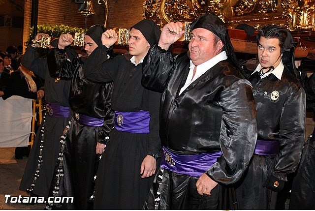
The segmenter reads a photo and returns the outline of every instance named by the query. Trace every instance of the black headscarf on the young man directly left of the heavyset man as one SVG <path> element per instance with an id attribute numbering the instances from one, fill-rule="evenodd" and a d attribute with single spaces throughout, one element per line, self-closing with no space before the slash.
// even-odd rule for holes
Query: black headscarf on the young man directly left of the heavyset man
<path id="1" fill-rule="evenodd" d="M 146 38 L 150 46 L 153 46 L 158 43 L 161 30 L 152 20 L 144 19 L 139 23 L 133 25 L 130 28 L 130 30 L 132 28 L 141 31 L 141 33 Z"/>

